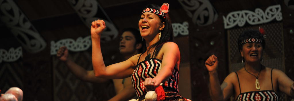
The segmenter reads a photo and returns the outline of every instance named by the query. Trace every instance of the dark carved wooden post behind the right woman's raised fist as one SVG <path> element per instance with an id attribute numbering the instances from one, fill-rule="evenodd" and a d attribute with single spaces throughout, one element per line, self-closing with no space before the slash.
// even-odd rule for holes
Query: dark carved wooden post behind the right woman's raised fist
<path id="1" fill-rule="evenodd" d="M 191 25 L 189 31 L 192 100 L 210 101 L 209 74 L 204 64 L 207 58 L 213 54 L 218 57 L 220 82 L 228 75 L 226 35 L 222 20 L 205 27 Z"/>

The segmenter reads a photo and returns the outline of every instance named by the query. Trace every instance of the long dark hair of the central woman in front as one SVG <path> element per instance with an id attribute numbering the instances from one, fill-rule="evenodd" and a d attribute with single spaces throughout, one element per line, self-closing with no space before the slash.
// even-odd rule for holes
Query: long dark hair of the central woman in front
<path id="1" fill-rule="evenodd" d="M 155 4 L 149 4 L 146 6 L 146 8 L 153 8 L 160 10 L 160 6 L 155 5 Z M 156 14 L 157 15 L 157 14 Z M 159 16 L 159 15 L 157 15 Z M 162 48 L 163 44 L 166 42 L 172 42 L 173 41 L 173 27 L 171 25 L 171 19 L 169 18 L 169 15 L 166 13 L 165 18 L 162 16 L 159 16 L 161 23 L 165 23 L 165 27 L 163 30 L 161 30 L 161 38 L 159 41 L 152 46 L 150 46 L 149 50 L 147 50 L 147 53 L 150 51 L 150 49 L 155 48 L 152 57 L 155 58 L 158 55 L 158 52 Z"/>

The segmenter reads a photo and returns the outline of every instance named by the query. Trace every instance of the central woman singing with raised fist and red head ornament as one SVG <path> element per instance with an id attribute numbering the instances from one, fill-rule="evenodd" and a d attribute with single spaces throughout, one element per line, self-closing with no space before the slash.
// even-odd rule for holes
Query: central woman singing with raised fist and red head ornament
<path id="1" fill-rule="evenodd" d="M 100 48 L 101 32 L 106 25 L 103 20 L 92 22 L 92 64 L 96 77 L 121 79 L 132 78 L 133 87 L 140 101 L 145 100 L 147 91 L 162 87 L 161 100 L 186 100 L 178 94 L 178 70 L 180 51 L 173 43 L 173 29 L 168 16 L 168 4 L 161 8 L 147 5 L 139 20 L 141 36 L 146 41 L 147 50 L 120 63 L 105 66 Z"/>

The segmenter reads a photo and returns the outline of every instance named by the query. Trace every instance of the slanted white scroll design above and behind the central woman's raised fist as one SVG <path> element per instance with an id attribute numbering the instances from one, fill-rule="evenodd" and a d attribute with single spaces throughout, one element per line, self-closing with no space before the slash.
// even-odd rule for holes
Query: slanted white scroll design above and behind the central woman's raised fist
<path id="1" fill-rule="evenodd" d="M 101 34 L 101 42 L 111 41 L 118 36 L 118 30 L 96 0 L 68 1 L 88 28 L 91 27 L 92 21 L 105 21 L 106 29 Z"/>

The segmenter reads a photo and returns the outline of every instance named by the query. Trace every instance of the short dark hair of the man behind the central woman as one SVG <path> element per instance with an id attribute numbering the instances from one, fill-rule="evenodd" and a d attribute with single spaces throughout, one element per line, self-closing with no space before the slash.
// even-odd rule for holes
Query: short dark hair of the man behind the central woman
<path id="1" fill-rule="evenodd" d="M 135 46 L 139 43 L 142 44 L 142 47 L 139 49 L 139 53 L 143 53 L 143 49 L 146 47 L 146 44 L 143 43 L 142 41 L 142 36 L 140 34 L 140 31 L 136 28 L 124 28 L 123 32 L 129 31 L 135 36 Z"/>

